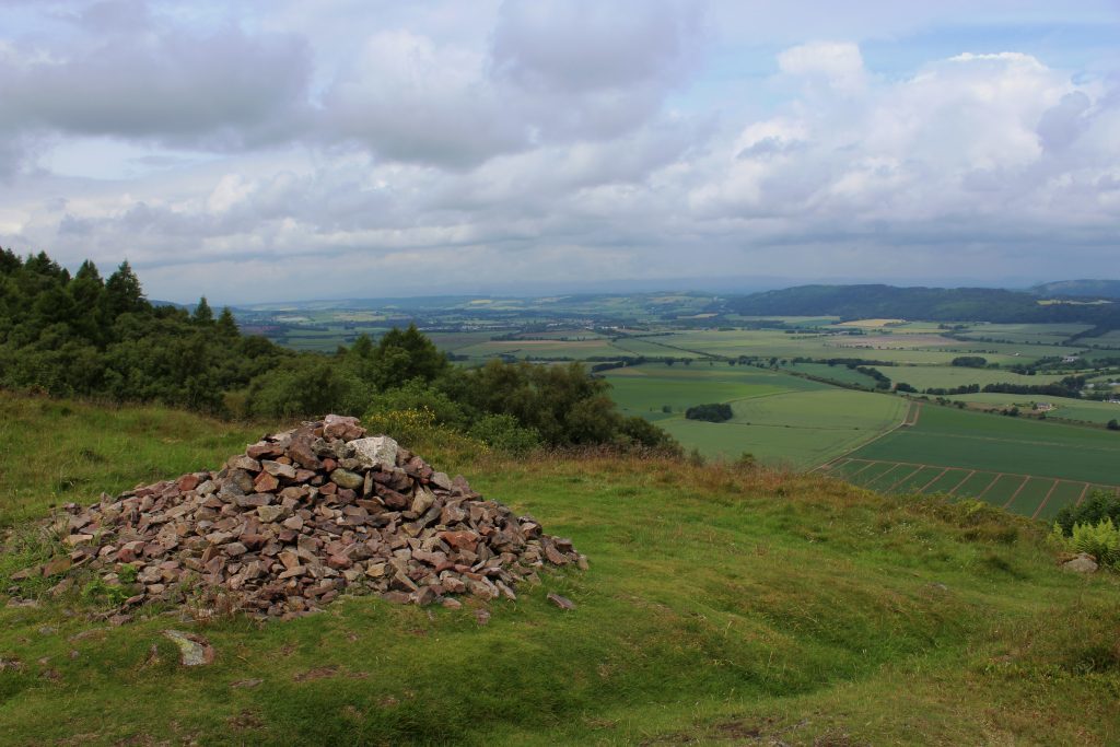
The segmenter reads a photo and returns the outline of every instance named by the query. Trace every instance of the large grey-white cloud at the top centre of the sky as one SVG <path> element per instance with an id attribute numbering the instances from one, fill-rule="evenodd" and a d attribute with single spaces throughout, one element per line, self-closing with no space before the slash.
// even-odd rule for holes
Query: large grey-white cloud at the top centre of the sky
<path id="1" fill-rule="evenodd" d="M 668 0 L 510 1 L 487 49 L 377 32 L 324 95 L 324 134 L 454 169 L 625 136 L 693 69 L 698 25 L 693 6 Z"/>

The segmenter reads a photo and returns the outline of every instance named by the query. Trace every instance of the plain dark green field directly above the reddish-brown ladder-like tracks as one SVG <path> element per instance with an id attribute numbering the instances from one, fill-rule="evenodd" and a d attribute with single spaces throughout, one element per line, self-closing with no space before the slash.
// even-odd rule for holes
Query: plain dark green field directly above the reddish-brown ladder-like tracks
<path id="1" fill-rule="evenodd" d="M 895 430 L 848 456 L 1120 484 L 1118 433 L 935 405 L 922 408 L 916 426 Z"/>

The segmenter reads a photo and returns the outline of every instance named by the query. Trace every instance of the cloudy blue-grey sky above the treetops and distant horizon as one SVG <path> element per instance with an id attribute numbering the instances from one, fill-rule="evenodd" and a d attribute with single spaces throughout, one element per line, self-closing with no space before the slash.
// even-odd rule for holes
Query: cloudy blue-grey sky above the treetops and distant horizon
<path id="1" fill-rule="evenodd" d="M 231 305 L 1116 278 L 1120 0 L 0 0 L 0 245 Z"/>

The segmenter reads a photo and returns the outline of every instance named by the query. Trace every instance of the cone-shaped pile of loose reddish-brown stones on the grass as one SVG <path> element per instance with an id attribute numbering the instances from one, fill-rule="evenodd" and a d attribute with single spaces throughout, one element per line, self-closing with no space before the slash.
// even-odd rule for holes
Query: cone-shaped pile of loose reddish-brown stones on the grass
<path id="1" fill-rule="evenodd" d="M 463 594 L 515 599 L 547 564 L 587 567 L 570 540 L 340 415 L 267 436 L 218 471 L 66 511 L 69 562 L 132 589 L 127 605 L 209 587 L 261 616 L 344 591 L 458 607 Z"/>

